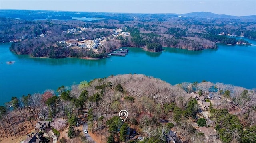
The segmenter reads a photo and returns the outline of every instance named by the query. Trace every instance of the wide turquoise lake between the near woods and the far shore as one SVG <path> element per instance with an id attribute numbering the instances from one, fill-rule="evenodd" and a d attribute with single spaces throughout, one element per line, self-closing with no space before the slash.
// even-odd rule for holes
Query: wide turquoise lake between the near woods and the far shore
<path id="1" fill-rule="evenodd" d="M 255 88 L 256 41 L 248 41 L 254 45 L 220 44 L 218 49 L 203 51 L 164 48 L 163 52 L 151 53 L 129 48 L 125 57 L 100 60 L 32 58 L 16 55 L 9 51 L 10 43 L 1 43 L 0 104 L 12 96 L 42 93 L 46 89 L 56 91 L 62 85 L 129 73 L 154 76 L 170 84 L 207 80 Z M 15 63 L 6 64 L 7 61 Z"/>

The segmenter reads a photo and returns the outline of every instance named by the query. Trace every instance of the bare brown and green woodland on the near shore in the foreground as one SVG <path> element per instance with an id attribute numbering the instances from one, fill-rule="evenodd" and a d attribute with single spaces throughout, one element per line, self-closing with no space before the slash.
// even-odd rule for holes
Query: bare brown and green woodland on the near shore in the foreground
<path id="1" fill-rule="evenodd" d="M 190 96 L 193 92 L 210 107 L 202 109 Z M 168 133 L 174 133 L 176 143 L 255 143 L 255 105 L 255 89 L 205 80 L 171 85 L 151 76 L 124 74 L 12 97 L 0 106 L 0 139 L 26 135 L 28 126 L 47 120 L 61 135 L 68 129 L 68 138 L 58 139 L 61 143 L 87 143 L 77 134 L 84 123 L 105 143 L 168 143 Z M 46 107 L 50 113 L 39 117 Z M 120 110 L 129 113 L 125 122 L 118 117 Z M 199 127 L 213 132 L 208 135 Z"/>

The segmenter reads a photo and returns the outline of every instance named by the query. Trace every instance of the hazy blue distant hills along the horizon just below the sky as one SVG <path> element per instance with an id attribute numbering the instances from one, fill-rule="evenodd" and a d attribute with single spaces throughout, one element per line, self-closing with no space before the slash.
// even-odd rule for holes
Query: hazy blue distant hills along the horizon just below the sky
<path id="1" fill-rule="evenodd" d="M 256 20 L 256 15 L 251 16 L 230 16 L 225 14 L 214 14 L 212 12 L 191 12 L 187 14 L 160 13 L 160 14 L 139 14 L 139 13 L 109 13 L 109 12 L 70 12 L 70 11 L 50 11 L 50 10 L 7 10 L 0 9 L 1 17 L 20 18 L 26 20 L 34 19 L 72 19 L 72 17 L 100 17 L 106 19 L 125 19 L 138 17 L 162 17 L 162 16 L 182 16 L 192 18 L 228 18 L 228 19 L 252 19 Z"/>

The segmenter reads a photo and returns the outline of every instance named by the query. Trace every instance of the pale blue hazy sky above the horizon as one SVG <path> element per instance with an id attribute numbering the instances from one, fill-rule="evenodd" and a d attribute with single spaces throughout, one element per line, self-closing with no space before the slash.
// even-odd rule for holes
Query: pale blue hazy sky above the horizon
<path id="1" fill-rule="evenodd" d="M 256 15 L 256 0 L 0 0 L 1 9 Z"/>

